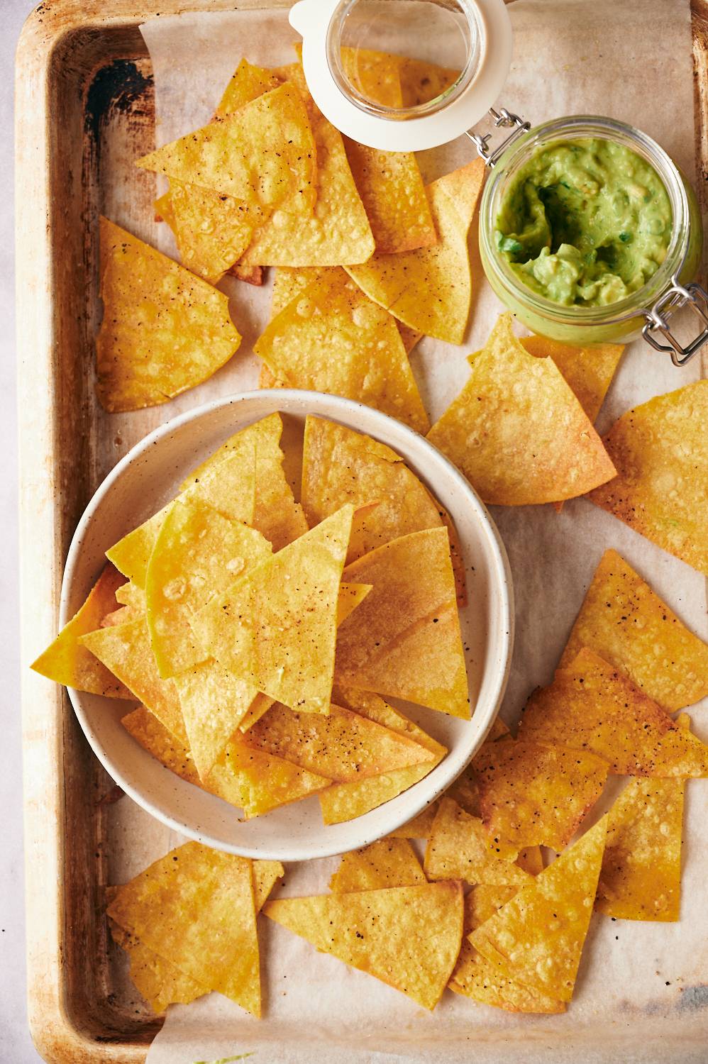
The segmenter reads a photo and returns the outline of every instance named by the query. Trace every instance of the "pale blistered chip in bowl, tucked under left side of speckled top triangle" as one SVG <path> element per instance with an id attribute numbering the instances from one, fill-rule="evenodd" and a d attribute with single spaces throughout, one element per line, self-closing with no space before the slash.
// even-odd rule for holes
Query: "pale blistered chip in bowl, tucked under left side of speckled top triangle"
<path id="1" fill-rule="evenodd" d="M 150 639 L 163 678 L 209 656 L 195 639 L 190 619 L 213 595 L 226 591 L 271 553 L 270 544 L 256 529 L 227 520 L 203 503 L 176 499 L 150 554 L 145 580 Z"/>

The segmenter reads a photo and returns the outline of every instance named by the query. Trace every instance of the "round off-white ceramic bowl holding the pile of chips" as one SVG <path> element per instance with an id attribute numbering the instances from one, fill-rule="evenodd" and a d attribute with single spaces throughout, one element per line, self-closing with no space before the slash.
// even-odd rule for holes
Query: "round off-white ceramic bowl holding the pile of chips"
<path id="1" fill-rule="evenodd" d="M 381 838 L 432 801 L 465 767 L 489 731 L 507 682 L 512 648 L 512 591 L 504 546 L 465 478 L 423 436 L 348 399 L 314 392 L 260 390 L 208 403 L 146 436 L 106 477 L 81 518 L 66 563 L 61 624 L 76 613 L 104 564 L 103 552 L 172 498 L 183 478 L 228 436 L 274 411 L 340 421 L 397 451 L 445 506 L 460 536 L 468 605 L 461 613 L 467 648 L 471 721 L 397 704 L 449 750 L 424 780 L 345 824 L 324 826 L 316 797 L 242 821 L 240 811 L 164 768 L 120 725 L 129 704 L 69 689 L 99 761 L 139 805 L 191 838 L 245 857 L 300 861 L 330 857 Z"/>

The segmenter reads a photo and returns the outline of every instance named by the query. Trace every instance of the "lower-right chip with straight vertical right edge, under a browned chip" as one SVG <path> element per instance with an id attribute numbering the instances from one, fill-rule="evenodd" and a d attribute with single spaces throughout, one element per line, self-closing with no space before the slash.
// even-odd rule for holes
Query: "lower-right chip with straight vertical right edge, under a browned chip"
<path id="1" fill-rule="evenodd" d="M 688 727 L 688 717 L 679 718 Z M 684 780 L 630 780 L 609 812 L 595 908 L 623 920 L 677 920 Z"/>

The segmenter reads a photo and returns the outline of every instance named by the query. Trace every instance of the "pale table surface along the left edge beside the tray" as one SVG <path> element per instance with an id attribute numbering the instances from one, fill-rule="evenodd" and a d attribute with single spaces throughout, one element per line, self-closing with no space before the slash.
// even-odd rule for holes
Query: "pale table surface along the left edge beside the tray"
<path id="1" fill-rule="evenodd" d="M 13 218 L 15 46 L 33 0 L 0 0 L 0 1062 L 40 1060 L 27 1026 L 22 869 L 22 759 L 17 580 L 17 416 Z"/>

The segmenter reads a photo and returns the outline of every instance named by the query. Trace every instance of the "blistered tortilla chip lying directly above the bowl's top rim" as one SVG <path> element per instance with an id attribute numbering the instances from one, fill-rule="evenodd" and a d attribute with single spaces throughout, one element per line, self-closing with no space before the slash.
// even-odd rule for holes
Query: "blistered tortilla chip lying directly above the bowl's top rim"
<path id="1" fill-rule="evenodd" d="M 253 350 L 290 387 L 357 399 L 419 431 L 429 425 L 393 318 L 344 270 L 289 303 Z"/>

